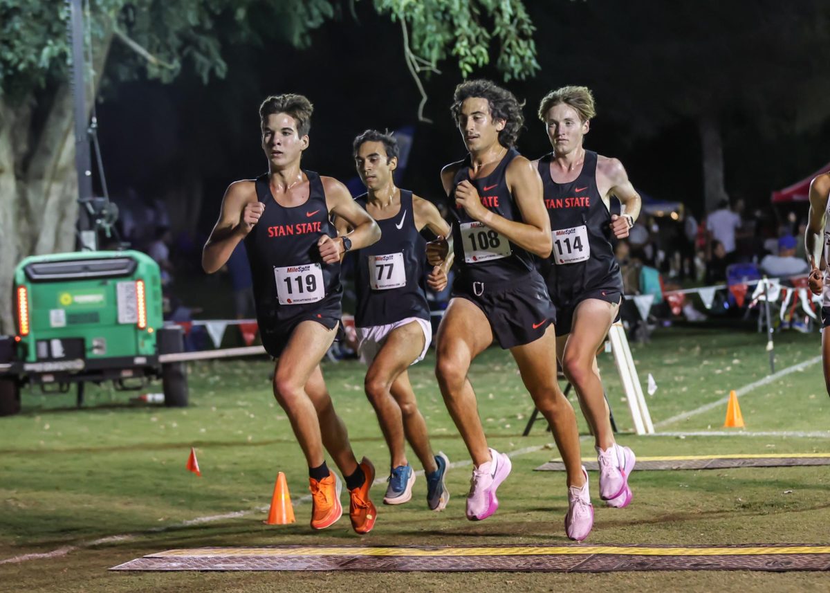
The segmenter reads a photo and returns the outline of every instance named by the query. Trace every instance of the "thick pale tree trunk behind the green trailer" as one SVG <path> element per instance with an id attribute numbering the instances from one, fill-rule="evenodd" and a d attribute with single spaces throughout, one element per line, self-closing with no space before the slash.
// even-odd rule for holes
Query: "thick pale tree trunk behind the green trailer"
<path id="1" fill-rule="evenodd" d="M 111 33 L 104 37 L 94 51 L 95 89 L 112 41 Z M 0 334 L 17 331 L 12 316 L 17 263 L 32 254 L 75 248 L 78 178 L 72 118 L 68 82 L 58 87 L 43 125 L 32 125 L 31 102 L 12 107 L 0 96 Z M 37 137 L 35 129 L 42 130 Z"/>

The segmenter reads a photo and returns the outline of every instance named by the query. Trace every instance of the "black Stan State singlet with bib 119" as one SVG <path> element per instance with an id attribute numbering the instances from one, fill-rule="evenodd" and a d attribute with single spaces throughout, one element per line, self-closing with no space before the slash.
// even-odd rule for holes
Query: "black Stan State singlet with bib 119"
<path id="1" fill-rule="evenodd" d="M 256 197 L 265 211 L 245 238 L 245 247 L 261 322 L 291 319 L 343 292 L 340 263 L 324 263 L 317 247 L 324 233 L 337 237 L 323 183 L 313 171 L 303 173 L 309 180 L 309 198 L 291 208 L 276 202 L 267 174 L 255 182 Z"/>

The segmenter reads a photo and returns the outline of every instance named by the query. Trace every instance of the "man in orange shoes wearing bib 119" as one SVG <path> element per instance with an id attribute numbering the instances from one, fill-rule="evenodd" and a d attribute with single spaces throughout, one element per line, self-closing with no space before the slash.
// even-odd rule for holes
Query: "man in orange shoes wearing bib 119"
<path id="1" fill-rule="evenodd" d="M 202 266 L 216 272 L 244 240 L 254 280 L 262 344 L 277 358 L 274 396 L 309 465 L 311 527 L 330 527 L 343 513 L 340 483 L 325 463 L 334 458 L 350 492 L 354 531 L 374 527 L 369 499 L 374 467 L 357 462 L 343 421 L 334 412 L 320 360 L 334 341 L 340 316 L 340 259 L 349 247 L 367 247 L 380 230 L 336 179 L 300 169 L 309 145 L 312 106 L 300 95 L 270 96 L 260 106 L 268 173 L 237 181 L 205 243 Z M 337 237 L 330 214 L 354 228 Z"/>

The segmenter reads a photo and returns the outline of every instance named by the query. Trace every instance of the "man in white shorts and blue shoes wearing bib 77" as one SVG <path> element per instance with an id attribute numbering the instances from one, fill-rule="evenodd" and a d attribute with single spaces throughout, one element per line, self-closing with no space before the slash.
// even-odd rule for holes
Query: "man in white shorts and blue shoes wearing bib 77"
<path id="1" fill-rule="evenodd" d="M 354 139 L 354 164 L 369 190 L 356 201 L 381 228 L 378 243 L 355 252 L 358 298 L 354 321 L 360 358 L 369 365 L 366 395 L 378 414 L 391 456 L 383 502 L 403 504 L 412 498 L 415 472 L 407 461 L 405 437 L 427 478 L 427 505 L 441 511 L 450 497 L 444 479 L 449 462 L 444 453 L 432 453 L 407 368 L 422 360 L 432 341 L 423 286 L 426 243 L 420 231 L 427 227 L 446 237 L 450 226 L 432 203 L 395 187 L 398 141 L 393 135 L 378 130 L 359 135 Z M 345 221 L 336 223 L 341 233 L 348 231 Z M 447 286 L 451 266 L 452 257 L 432 269 L 427 282 L 433 290 Z"/>

